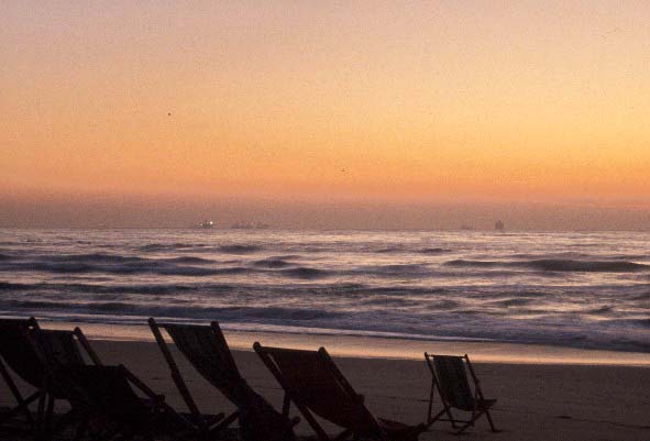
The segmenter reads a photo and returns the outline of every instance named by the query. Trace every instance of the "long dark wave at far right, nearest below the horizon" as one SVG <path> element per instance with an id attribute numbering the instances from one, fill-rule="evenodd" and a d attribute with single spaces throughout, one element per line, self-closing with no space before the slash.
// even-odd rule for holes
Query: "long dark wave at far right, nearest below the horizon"
<path id="1" fill-rule="evenodd" d="M 445 262 L 445 266 L 455 267 L 522 267 L 549 272 L 577 273 L 634 273 L 650 269 L 650 265 L 628 261 L 574 261 L 566 258 L 541 258 L 525 262 L 467 261 Z"/>

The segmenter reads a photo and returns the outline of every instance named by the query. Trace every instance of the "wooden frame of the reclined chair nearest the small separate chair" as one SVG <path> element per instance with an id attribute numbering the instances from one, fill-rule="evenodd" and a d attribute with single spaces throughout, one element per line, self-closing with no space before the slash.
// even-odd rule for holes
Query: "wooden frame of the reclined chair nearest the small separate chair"
<path id="1" fill-rule="evenodd" d="M 285 390 L 285 398 L 284 398 L 284 406 L 283 406 L 283 414 L 286 418 L 289 417 L 289 408 L 291 401 L 298 408 L 300 414 L 305 417 L 309 426 L 313 429 L 316 434 L 318 436 L 319 440 L 321 441 L 343 441 L 348 439 L 356 440 L 359 439 L 359 434 L 355 433 L 350 428 L 344 428 L 342 432 L 331 438 L 327 434 L 322 426 L 318 422 L 315 415 L 309 410 L 308 405 L 302 403 L 301 398 L 298 396 L 297 392 L 294 389 L 293 385 L 287 381 L 287 378 L 283 375 L 280 368 L 277 366 L 276 362 L 274 361 L 274 354 L 280 352 L 300 352 L 299 350 L 290 350 L 284 348 L 272 348 L 272 346 L 263 346 L 258 342 L 253 344 L 253 349 L 260 355 L 266 367 L 271 371 L 273 376 L 277 379 L 280 384 L 282 388 Z M 302 352 L 315 352 L 315 351 L 302 351 Z M 339 370 L 334 361 L 331 359 L 330 354 L 327 352 L 324 348 L 320 348 L 316 351 L 322 362 L 324 362 L 327 368 L 332 374 L 332 376 L 337 379 L 340 384 L 344 393 L 350 397 L 351 403 L 353 403 L 357 410 L 363 415 L 363 417 L 372 425 L 370 430 L 375 431 L 378 433 L 381 441 L 392 441 L 394 438 L 390 438 L 388 433 L 382 428 L 378 420 L 375 416 L 367 409 L 364 401 L 364 396 L 357 394 L 352 385 L 348 382 L 343 373 Z M 426 430 L 425 425 L 419 425 L 412 428 L 410 432 L 405 434 L 405 440 L 410 440 L 417 438 L 419 433 Z M 401 439 L 401 438 L 400 438 Z"/>

